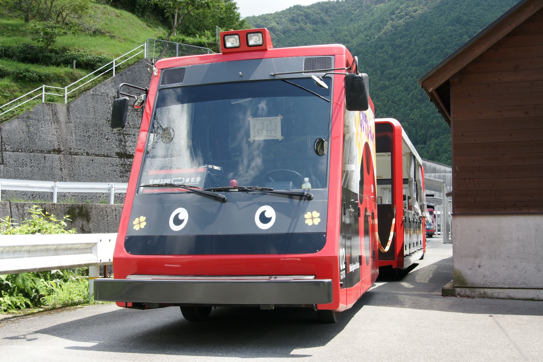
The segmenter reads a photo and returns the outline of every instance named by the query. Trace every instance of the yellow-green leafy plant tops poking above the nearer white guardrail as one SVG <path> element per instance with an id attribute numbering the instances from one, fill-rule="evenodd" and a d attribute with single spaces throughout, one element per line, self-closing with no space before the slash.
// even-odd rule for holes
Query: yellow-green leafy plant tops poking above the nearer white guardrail
<path id="1" fill-rule="evenodd" d="M 66 220 L 71 221 L 68 219 L 70 215 L 59 220 L 47 211 L 44 213 L 39 205 L 33 205 L 27 211 L 30 217 L 21 224 L 15 223 L 10 217 L 0 218 L 0 235 L 75 234 L 75 229 L 66 230 Z"/>

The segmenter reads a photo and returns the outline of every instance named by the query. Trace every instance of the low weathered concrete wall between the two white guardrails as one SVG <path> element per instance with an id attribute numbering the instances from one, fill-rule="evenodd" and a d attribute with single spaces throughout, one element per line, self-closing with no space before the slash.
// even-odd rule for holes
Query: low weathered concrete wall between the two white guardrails
<path id="1" fill-rule="evenodd" d="M 70 215 L 67 229 L 75 228 L 78 234 L 116 233 L 123 210 L 123 204 L 0 202 L 0 217 L 9 216 L 20 223 L 29 217 L 27 209 L 32 205 L 40 205 L 57 219 Z"/>

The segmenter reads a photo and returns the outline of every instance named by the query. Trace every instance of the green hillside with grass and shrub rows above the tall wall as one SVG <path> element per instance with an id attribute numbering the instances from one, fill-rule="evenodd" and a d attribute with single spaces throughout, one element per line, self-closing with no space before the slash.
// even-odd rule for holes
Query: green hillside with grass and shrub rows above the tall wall
<path id="1" fill-rule="evenodd" d="M 30 27 L 31 23 L 19 14 L 0 12 L 0 105 L 42 84 L 58 87 L 71 84 L 143 44 L 147 38 L 157 38 L 165 32 L 160 24 L 149 25 L 128 11 L 92 2 L 85 16 L 67 22 L 66 34 L 56 38 L 48 48 L 30 36 Z M 142 55 L 135 57 L 124 66 L 142 58 Z M 98 82 L 100 78 L 73 92 L 70 98 Z M 56 90 L 59 91 L 62 92 Z M 46 96 L 46 101 L 61 102 L 64 98 Z M 0 116 L 0 122 L 39 102 L 41 97 Z"/>

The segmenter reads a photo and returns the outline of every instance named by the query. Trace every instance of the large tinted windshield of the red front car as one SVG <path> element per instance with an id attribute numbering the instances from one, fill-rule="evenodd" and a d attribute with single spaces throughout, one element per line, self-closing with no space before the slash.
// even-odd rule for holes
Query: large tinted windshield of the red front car
<path id="1" fill-rule="evenodd" d="M 302 189 L 307 178 L 304 189 L 326 188 L 330 90 L 319 88 L 311 78 L 288 82 L 161 89 L 140 185 L 290 190 Z M 330 78 L 325 82 L 330 85 Z M 139 192 L 179 191 L 185 190 L 141 188 Z"/>

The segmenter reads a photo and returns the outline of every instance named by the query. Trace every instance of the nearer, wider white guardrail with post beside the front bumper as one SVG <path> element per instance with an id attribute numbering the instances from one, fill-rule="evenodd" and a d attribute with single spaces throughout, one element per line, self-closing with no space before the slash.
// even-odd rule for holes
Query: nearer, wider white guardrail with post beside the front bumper
<path id="1" fill-rule="evenodd" d="M 117 234 L 2 235 L 0 274 L 89 267 L 89 296 L 100 265 L 112 265 Z"/>

